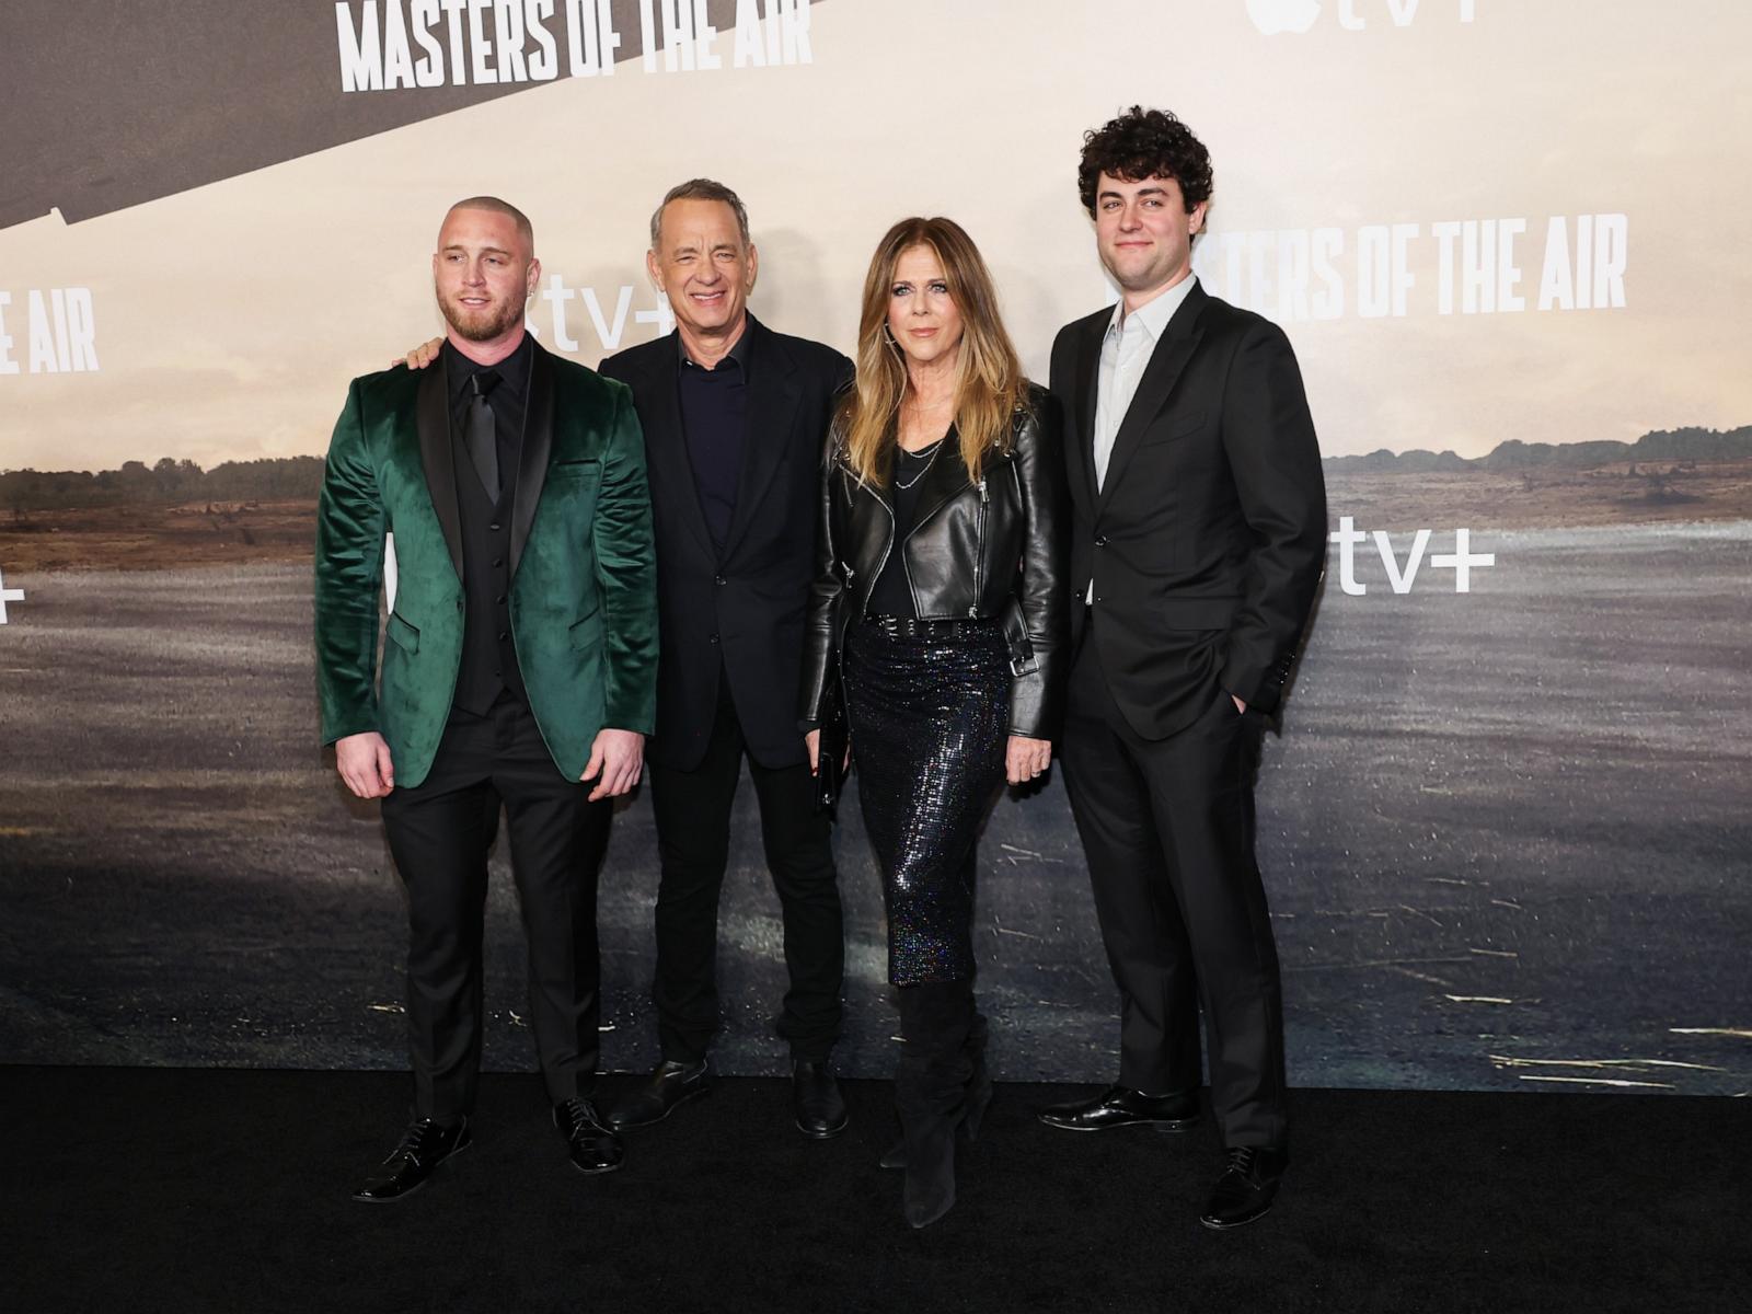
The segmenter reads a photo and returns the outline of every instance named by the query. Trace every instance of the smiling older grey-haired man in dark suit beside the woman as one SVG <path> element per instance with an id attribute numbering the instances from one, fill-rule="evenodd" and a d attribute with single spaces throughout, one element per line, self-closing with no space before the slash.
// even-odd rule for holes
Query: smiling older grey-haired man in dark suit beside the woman
<path id="1" fill-rule="evenodd" d="M 829 818 L 797 729 L 802 611 L 815 568 L 820 461 L 851 361 L 748 314 L 759 252 L 722 182 L 673 187 L 646 258 L 676 329 L 611 356 L 645 429 L 657 534 L 657 1034 L 662 1062 L 611 1111 L 655 1123 L 706 1090 L 718 1030 L 718 894 L 743 757 L 785 922 L 778 1032 L 790 1042 L 797 1128 L 830 1137 L 846 1106 L 829 1069 L 839 1037 L 844 929 Z"/>

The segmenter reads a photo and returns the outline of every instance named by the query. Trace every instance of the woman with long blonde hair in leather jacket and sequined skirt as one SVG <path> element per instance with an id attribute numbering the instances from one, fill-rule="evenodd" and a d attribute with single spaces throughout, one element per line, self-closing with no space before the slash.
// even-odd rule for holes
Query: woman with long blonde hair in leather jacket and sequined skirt
<path id="1" fill-rule="evenodd" d="M 992 275 L 950 219 L 888 230 L 864 280 L 857 387 L 822 477 L 802 720 L 843 697 L 883 876 L 902 1051 L 906 1218 L 955 1204 L 955 1132 L 992 1097 L 974 1007 L 974 841 L 1051 762 L 1065 503 L 1051 399 L 1021 375 Z M 820 731 L 808 732 L 818 767 Z"/>

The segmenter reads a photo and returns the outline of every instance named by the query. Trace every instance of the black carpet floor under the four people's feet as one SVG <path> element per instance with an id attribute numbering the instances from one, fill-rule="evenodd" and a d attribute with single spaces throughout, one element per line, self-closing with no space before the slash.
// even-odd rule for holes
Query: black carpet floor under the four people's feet
<path id="1" fill-rule="evenodd" d="M 1747 1100 L 1298 1091 L 1277 1207 L 1212 1233 L 1209 1128 L 1034 1121 L 1070 1093 L 999 1086 L 915 1233 L 881 1083 L 808 1142 L 725 1079 L 583 1177 L 536 1077 L 485 1077 L 475 1144 L 373 1207 L 405 1077 L 0 1067 L 0 1310 L 1752 1309 Z"/>

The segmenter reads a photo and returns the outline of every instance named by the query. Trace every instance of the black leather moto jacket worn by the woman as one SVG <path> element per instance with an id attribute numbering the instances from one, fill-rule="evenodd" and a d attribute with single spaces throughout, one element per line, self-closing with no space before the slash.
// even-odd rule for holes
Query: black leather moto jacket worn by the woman
<path id="1" fill-rule="evenodd" d="M 894 494 L 860 484 L 837 442 L 822 464 L 822 540 L 804 639 L 801 718 L 820 718 L 846 625 L 869 606 L 890 552 L 902 554 L 922 620 L 990 617 L 1009 645 L 1009 732 L 1051 739 L 1063 703 L 1069 617 L 1058 406 L 1028 389 L 1009 445 L 979 482 L 944 452 L 922 477 L 918 519 L 895 543 Z"/>

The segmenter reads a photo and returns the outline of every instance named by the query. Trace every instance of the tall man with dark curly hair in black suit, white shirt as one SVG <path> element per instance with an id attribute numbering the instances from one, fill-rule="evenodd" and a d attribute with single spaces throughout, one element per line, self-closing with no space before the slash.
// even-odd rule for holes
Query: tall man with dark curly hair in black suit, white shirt
<path id="1" fill-rule="evenodd" d="M 1077 184 L 1120 305 L 1053 343 L 1081 601 L 1062 760 L 1121 1049 L 1114 1086 L 1041 1120 L 1193 1127 L 1202 1002 L 1226 1163 L 1200 1221 L 1239 1226 L 1288 1163 L 1253 780 L 1326 557 L 1319 443 L 1282 331 L 1191 272 L 1211 200 L 1191 130 L 1134 107 L 1084 137 Z"/>

